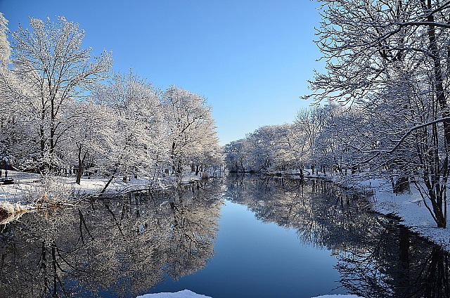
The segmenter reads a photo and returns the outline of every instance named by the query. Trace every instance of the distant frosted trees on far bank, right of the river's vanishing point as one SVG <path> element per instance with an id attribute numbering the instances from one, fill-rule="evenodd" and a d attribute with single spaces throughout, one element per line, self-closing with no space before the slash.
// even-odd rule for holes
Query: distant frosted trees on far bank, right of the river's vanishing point
<path id="1" fill-rule="evenodd" d="M 259 127 L 225 145 L 226 168 L 233 172 L 311 176 L 346 171 L 349 164 L 330 135 L 338 105 L 299 110 L 293 123 Z"/>

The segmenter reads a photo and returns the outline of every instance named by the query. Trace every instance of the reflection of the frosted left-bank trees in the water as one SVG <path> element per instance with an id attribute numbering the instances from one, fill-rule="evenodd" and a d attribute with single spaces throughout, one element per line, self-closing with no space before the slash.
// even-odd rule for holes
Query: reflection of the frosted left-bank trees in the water
<path id="1" fill-rule="evenodd" d="M 0 233 L 6 297 L 136 297 L 205 266 L 214 253 L 219 185 L 131 193 L 89 208 L 27 214 Z"/>

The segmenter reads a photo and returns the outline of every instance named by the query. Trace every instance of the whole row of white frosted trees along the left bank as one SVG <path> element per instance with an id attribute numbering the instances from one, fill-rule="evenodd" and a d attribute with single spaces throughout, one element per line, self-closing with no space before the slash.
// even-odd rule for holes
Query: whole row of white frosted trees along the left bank
<path id="1" fill-rule="evenodd" d="M 111 71 L 104 51 L 63 17 L 30 18 L 8 40 L 0 13 L 0 160 L 41 174 L 180 175 L 221 164 L 205 98 L 160 91 L 131 70 Z"/>

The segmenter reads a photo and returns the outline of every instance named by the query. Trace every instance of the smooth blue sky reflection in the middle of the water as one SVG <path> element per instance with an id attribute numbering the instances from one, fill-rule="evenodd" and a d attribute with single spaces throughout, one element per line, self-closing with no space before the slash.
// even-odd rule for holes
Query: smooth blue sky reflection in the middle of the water
<path id="1" fill-rule="evenodd" d="M 219 297 L 314 297 L 342 294 L 329 250 L 303 245 L 296 231 L 255 219 L 247 207 L 226 202 L 221 209 L 214 259 L 191 276 L 172 279 L 152 292 L 189 289 Z"/>

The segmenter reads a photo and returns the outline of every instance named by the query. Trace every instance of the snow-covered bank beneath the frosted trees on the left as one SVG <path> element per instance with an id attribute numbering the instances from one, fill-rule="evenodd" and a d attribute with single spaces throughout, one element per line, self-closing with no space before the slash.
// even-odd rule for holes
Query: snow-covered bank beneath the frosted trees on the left
<path id="1" fill-rule="evenodd" d="M 164 190 L 179 184 L 176 177 L 145 179 L 122 177 L 110 179 L 101 176 L 84 176 L 79 184 L 75 176 L 53 176 L 43 179 L 39 174 L 8 171 L 13 183 L 0 183 L 0 224 L 18 219 L 26 212 L 58 206 L 78 206 L 86 197 L 114 196 L 139 190 Z M 199 181 L 202 176 L 185 175 L 182 185 Z M 105 188 L 105 186 L 108 186 Z"/>

